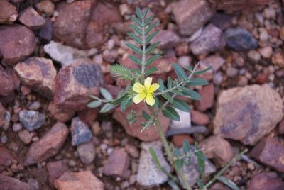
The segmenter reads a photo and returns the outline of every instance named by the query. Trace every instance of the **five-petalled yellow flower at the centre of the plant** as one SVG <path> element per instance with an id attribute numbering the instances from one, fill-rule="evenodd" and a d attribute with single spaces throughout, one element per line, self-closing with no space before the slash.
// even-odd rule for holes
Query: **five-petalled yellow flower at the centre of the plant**
<path id="1" fill-rule="evenodd" d="M 138 104 L 140 103 L 143 99 L 146 100 L 146 103 L 150 106 L 153 106 L 155 104 L 155 99 L 153 98 L 153 92 L 159 88 L 158 83 L 152 83 L 152 78 L 147 77 L 144 81 L 144 86 L 140 82 L 136 82 L 133 85 L 133 91 L 137 93 L 136 96 L 134 96 L 134 103 Z"/>

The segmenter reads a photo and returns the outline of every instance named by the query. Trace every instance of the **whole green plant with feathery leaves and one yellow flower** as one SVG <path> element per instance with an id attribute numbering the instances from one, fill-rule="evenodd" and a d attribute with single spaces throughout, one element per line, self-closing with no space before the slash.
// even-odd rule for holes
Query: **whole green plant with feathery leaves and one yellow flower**
<path id="1" fill-rule="evenodd" d="M 176 79 L 168 77 L 166 83 L 164 83 L 162 79 L 158 79 L 158 83 L 152 84 L 152 78 L 149 76 L 158 71 L 156 67 L 153 67 L 152 63 L 161 57 L 161 55 L 154 53 L 159 42 L 150 43 L 158 31 L 153 31 L 153 28 L 155 28 L 157 23 L 153 22 L 153 16 L 148 16 L 148 11 L 149 9 L 146 9 L 146 11 L 142 13 L 141 9 L 136 8 L 137 17 L 131 16 L 131 20 L 135 24 L 130 25 L 130 28 L 132 28 L 135 33 L 127 33 L 127 35 L 138 44 L 134 45 L 132 43 L 126 43 L 126 46 L 136 53 L 136 55 L 129 55 L 129 59 L 136 63 L 140 69 L 129 69 L 124 65 L 112 65 L 111 73 L 114 77 L 128 80 L 130 82 L 129 86 L 119 93 L 117 99 L 113 99 L 109 91 L 101 88 L 100 91 L 104 99 L 92 96 L 95 100 L 89 103 L 88 106 L 94 108 L 104 104 L 100 112 L 106 113 L 116 106 L 120 106 L 121 111 L 125 111 L 125 109 L 133 103 L 147 104 L 148 112 L 142 111 L 142 113 L 136 113 L 135 111 L 131 111 L 127 116 L 127 119 L 129 122 L 136 122 L 138 117 L 143 117 L 144 121 L 141 123 L 141 133 L 152 125 L 155 126 L 160 135 L 160 140 L 163 142 L 168 161 L 174 167 L 175 172 L 185 189 L 191 189 L 191 187 L 187 183 L 185 175 L 182 173 L 182 167 L 186 164 L 190 164 L 192 155 L 197 157 L 200 169 L 201 179 L 197 181 L 200 189 L 207 189 L 217 179 L 229 184 L 230 181 L 221 177 L 222 173 L 218 173 L 217 177 L 214 177 L 212 181 L 209 181 L 208 184 L 204 184 L 204 167 L 207 157 L 199 149 L 197 143 L 195 143 L 192 150 L 189 143 L 185 141 L 181 151 L 174 147 L 173 144 L 168 143 L 165 138 L 165 134 L 163 133 L 158 119 L 158 114 L 161 112 L 163 113 L 163 116 L 179 121 L 180 116 L 175 109 L 190 112 L 190 106 L 188 106 L 185 101 L 177 99 L 176 96 L 180 95 L 189 99 L 200 100 L 200 95 L 192 90 L 191 87 L 209 84 L 205 79 L 198 78 L 197 76 L 207 72 L 211 67 L 197 70 L 198 64 L 195 65 L 194 68 L 182 68 L 178 64 L 173 64 L 173 69 L 177 75 Z M 140 103 L 143 100 L 145 103 Z M 178 189 L 178 179 L 161 167 L 153 148 L 150 148 L 150 152 L 156 167 L 170 177 L 170 186 L 172 186 L 173 189 Z M 231 184 L 234 183 L 231 182 Z"/>

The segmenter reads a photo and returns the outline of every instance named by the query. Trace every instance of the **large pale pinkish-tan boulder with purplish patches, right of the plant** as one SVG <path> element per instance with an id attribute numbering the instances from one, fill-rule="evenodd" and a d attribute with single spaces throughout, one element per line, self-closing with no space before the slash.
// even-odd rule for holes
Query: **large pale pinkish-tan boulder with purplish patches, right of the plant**
<path id="1" fill-rule="evenodd" d="M 214 133 L 255 145 L 283 118 L 283 99 L 268 85 L 222 91 L 217 101 Z"/>

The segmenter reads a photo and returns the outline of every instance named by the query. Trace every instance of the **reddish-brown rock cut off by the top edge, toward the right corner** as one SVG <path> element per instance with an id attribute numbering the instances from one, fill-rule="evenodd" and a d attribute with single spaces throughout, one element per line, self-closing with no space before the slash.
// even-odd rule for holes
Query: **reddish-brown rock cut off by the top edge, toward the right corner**
<path id="1" fill-rule="evenodd" d="M 268 4 L 271 0 L 209 0 L 214 8 L 239 11 Z"/>

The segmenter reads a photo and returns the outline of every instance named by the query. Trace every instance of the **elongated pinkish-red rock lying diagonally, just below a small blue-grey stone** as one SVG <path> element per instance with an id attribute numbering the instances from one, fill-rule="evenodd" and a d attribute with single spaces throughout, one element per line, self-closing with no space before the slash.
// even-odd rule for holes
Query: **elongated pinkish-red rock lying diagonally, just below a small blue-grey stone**
<path id="1" fill-rule="evenodd" d="M 58 153 L 68 135 L 68 128 L 63 123 L 56 123 L 40 140 L 31 144 L 25 165 L 43 162 Z"/>

